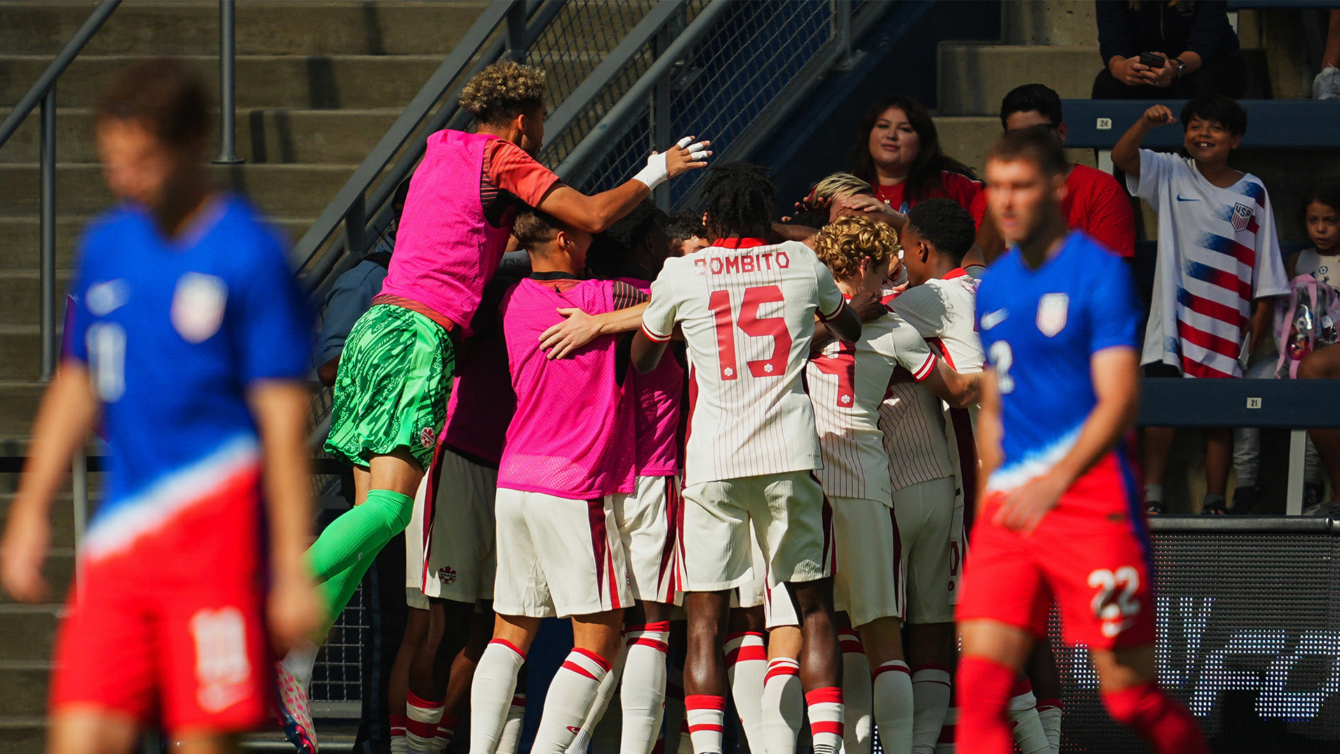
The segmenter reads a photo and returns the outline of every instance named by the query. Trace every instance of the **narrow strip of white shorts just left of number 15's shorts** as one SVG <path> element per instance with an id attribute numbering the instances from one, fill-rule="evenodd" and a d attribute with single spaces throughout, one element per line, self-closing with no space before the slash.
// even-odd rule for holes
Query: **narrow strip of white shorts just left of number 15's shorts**
<path id="1" fill-rule="evenodd" d="M 632 596 L 651 602 L 673 602 L 679 479 L 639 476 L 631 494 L 612 498 L 614 519 L 619 525 L 619 538 L 632 577 Z"/>

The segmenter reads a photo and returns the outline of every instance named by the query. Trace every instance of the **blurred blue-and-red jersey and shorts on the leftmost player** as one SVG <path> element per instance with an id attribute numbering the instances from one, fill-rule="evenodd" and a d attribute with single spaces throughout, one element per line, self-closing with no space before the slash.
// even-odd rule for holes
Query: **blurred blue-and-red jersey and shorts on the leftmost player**
<path id="1" fill-rule="evenodd" d="M 87 228 L 71 292 L 64 358 L 88 369 L 109 460 L 54 706 L 255 726 L 273 676 L 247 394 L 303 380 L 312 341 L 285 250 L 236 197 L 208 200 L 174 239 L 122 205 Z"/>

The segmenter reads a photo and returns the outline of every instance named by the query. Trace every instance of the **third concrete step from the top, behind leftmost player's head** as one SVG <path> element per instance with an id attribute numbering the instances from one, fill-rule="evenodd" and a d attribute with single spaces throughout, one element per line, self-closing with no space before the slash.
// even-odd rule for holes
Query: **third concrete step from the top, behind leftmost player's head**
<path id="1" fill-rule="evenodd" d="M 360 162 L 399 109 L 289 110 L 284 107 L 237 113 L 237 154 L 248 162 Z M 214 115 L 210 122 L 217 123 Z M 0 162 L 40 160 L 42 123 L 27 118 L 4 148 Z M 91 107 L 56 109 L 56 158 L 62 162 L 96 162 Z M 212 157 L 213 154 L 210 154 Z"/>

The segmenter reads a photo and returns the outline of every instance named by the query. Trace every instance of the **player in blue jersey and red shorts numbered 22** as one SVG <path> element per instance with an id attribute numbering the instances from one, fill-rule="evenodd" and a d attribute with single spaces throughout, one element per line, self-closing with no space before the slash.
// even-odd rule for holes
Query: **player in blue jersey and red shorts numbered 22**
<path id="1" fill-rule="evenodd" d="M 958 746 L 1012 749 L 1006 704 L 1055 598 L 1087 644 L 1103 703 L 1160 754 L 1209 753 L 1155 682 L 1154 600 L 1123 436 L 1139 404 L 1127 266 L 1061 213 L 1065 157 L 1036 130 L 988 153 L 988 204 L 1010 251 L 977 297 L 988 353 L 978 417 L 985 494 L 958 605 Z"/>

